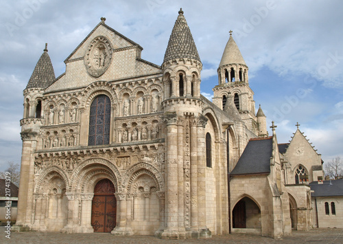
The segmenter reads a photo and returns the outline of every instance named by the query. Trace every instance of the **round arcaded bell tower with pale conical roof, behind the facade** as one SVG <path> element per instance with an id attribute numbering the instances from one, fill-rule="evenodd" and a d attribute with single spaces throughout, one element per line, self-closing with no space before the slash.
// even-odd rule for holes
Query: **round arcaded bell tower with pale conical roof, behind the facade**
<path id="1" fill-rule="evenodd" d="M 254 92 L 249 87 L 248 66 L 230 30 L 230 38 L 217 69 L 218 85 L 213 88 L 213 103 L 224 109 L 228 99 L 235 107 L 248 129 L 257 134 Z"/>

